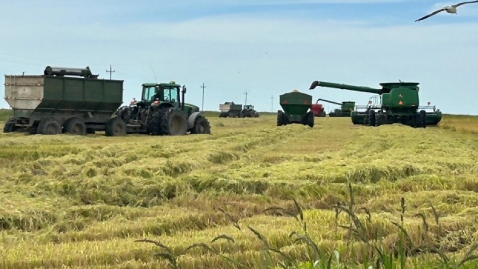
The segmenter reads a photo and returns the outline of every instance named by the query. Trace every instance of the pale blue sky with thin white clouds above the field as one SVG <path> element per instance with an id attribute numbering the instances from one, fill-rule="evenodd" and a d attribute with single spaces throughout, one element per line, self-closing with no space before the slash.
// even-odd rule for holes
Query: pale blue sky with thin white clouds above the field
<path id="1" fill-rule="evenodd" d="M 280 109 L 297 89 L 365 105 L 371 94 L 314 80 L 379 87 L 420 83 L 420 103 L 478 114 L 478 3 L 432 0 L 0 0 L 0 72 L 84 68 L 124 80 L 124 104 L 144 82 L 186 85 L 186 102 Z M 337 108 L 324 104 L 327 111 Z M 1 108 L 8 108 L 4 99 Z"/>

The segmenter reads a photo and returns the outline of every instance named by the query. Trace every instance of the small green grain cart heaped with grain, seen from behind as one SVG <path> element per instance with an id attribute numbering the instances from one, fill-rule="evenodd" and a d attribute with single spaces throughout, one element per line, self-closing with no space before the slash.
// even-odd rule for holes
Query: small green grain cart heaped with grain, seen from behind
<path id="1" fill-rule="evenodd" d="M 300 123 L 314 127 L 314 112 L 310 109 L 312 96 L 294 90 L 279 96 L 282 110 L 277 111 L 277 126 Z"/>

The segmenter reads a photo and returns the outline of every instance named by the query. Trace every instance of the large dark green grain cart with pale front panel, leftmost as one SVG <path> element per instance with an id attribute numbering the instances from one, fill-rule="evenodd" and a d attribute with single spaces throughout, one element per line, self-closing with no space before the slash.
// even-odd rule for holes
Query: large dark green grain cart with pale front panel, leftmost
<path id="1" fill-rule="evenodd" d="M 111 119 L 123 102 L 123 81 L 98 79 L 89 67 L 47 66 L 43 75 L 5 75 L 4 85 L 5 100 L 13 109 L 5 133 L 126 132 L 124 122 Z"/>

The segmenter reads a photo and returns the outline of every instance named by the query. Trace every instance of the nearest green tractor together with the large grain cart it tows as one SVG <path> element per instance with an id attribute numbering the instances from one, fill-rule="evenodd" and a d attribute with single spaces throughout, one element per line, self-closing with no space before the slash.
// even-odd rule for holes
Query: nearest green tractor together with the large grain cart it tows
<path id="1" fill-rule="evenodd" d="M 123 103 L 123 81 L 99 79 L 89 67 L 47 66 L 43 75 L 5 75 L 5 100 L 13 109 L 4 133 L 75 135 L 209 134 L 199 108 L 182 102 L 180 85 L 143 85 L 143 98 Z M 153 100 L 154 99 L 154 100 Z"/>

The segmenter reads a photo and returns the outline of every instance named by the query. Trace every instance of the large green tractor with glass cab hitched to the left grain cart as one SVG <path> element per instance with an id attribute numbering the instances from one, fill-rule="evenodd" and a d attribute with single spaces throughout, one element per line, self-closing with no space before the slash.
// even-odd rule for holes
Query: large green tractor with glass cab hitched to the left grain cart
<path id="1" fill-rule="evenodd" d="M 184 103 L 186 87 L 169 83 L 144 83 L 140 101 L 133 99 L 116 115 L 128 124 L 128 133 L 152 135 L 210 134 L 209 121 L 199 107 Z M 181 93 L 181 95 L 180 95 Z"/>

